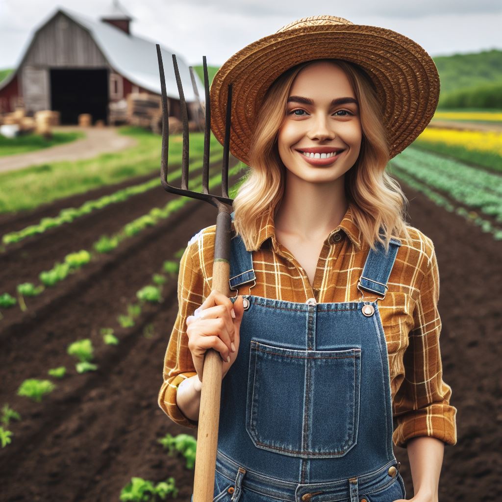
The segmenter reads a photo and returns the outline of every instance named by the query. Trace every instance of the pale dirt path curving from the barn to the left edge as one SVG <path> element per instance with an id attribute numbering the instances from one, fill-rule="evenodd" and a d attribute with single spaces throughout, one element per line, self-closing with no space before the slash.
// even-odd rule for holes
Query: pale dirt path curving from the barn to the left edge
<path id="1" fill-rule="evenodd" d="M 0 157 L 0 173 L 49 162 L 90 159 L 102 153 L 118 152 L 119 150 L 134 147 L 138 143 L 134 138 L 118 134 L 115 127 L 59 126 L 53 128 L 53 131 L 64 133 L 80 131 L 86 137 L 64 145 L 36 150 L 35 152 Z"/>

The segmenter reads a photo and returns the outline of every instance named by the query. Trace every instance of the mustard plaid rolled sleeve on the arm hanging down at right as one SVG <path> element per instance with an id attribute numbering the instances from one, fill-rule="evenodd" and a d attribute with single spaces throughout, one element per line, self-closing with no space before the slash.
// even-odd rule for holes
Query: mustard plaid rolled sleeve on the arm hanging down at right
<path id="1" fill-rule="evenodd" d="M 438 264 L 434 245 L 428 237 L 426 240 L 430 255 L 414 313 L 415 327 L 404 353 L 405 378 L 393 403 L 397 422 L 393 442 L 403 448 L 417 436 L 435 437 L 450 445 L 457 442 L 457 409 L 450 405 L 452 390 L 443 381 L 439 346 Z"/>

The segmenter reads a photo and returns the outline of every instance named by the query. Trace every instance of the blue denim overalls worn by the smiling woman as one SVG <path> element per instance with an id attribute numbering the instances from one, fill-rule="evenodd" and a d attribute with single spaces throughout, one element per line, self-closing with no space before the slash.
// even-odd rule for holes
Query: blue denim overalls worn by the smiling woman
<path id="1" fill-rule="evenodd" d="M 405 498 L 377 304 L 401 241 L 391 239 L 387 256 L 377 244 L 359 279 L 364 301 L 358 291 L 343 303 L 243 295 L 238 354 L 221 383 L 213 500 Z M 233 235 L 230 288 L 255 279 L 252 254 Z"/>

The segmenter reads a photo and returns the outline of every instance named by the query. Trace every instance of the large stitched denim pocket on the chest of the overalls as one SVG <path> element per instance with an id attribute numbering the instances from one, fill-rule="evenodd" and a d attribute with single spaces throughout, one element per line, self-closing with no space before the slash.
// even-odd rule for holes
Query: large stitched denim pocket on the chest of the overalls
<path id="1" fill-rule="evenodd" d="M 357 443 L 361 348 L 296 350 L 250 342 L 246 431 L 257 448 L 341 457 Z"/>

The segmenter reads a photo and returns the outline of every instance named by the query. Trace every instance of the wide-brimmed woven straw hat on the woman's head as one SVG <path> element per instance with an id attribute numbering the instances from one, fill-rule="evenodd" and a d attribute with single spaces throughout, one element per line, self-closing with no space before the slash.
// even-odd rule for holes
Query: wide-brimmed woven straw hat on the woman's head
<path id="1" fill-rule="evenodd" d="M 230 152 L 249 165 L 249 143 L 267 89 L 292 66 L 322 58 L 350 61 L 366 71 L 383 104 L 390 158 L 410 145 L 434 115 L 439 75 L 420 45 L 386 28 L 312 16 L 249 44 L 221 66 L 210 88 L 214 136 L 223 144 L 227 85 L 232 83 Z"/>

